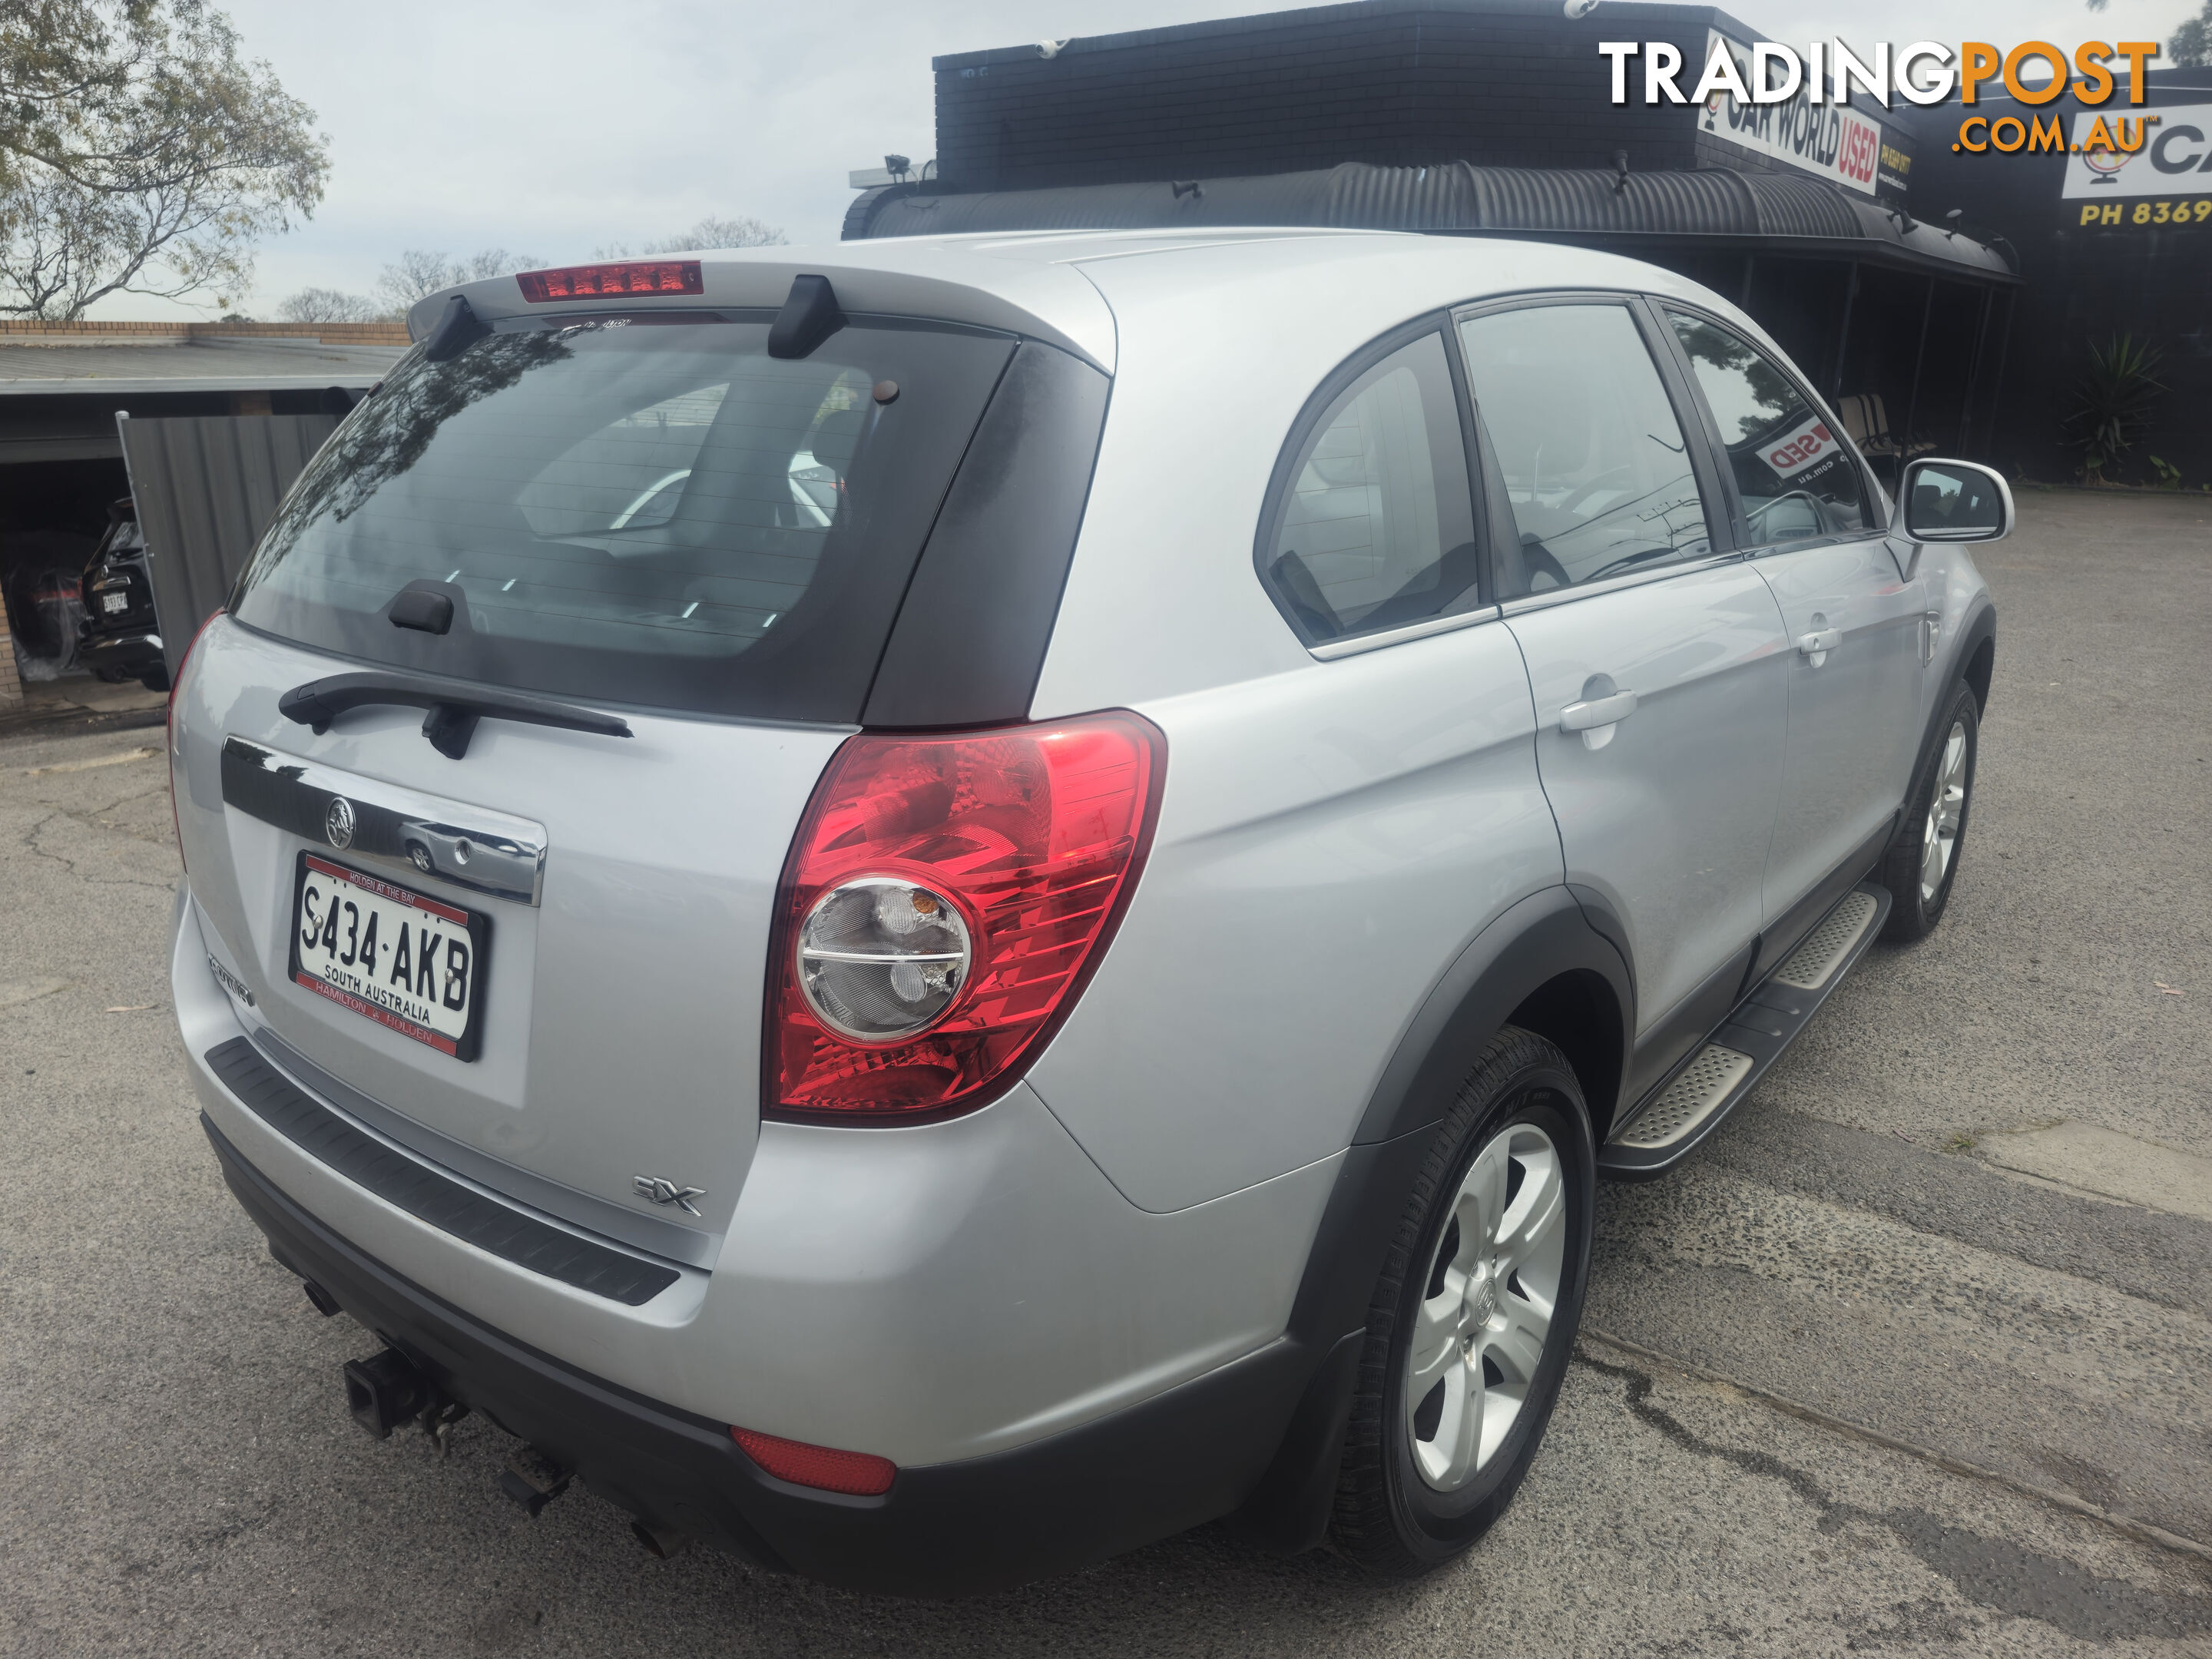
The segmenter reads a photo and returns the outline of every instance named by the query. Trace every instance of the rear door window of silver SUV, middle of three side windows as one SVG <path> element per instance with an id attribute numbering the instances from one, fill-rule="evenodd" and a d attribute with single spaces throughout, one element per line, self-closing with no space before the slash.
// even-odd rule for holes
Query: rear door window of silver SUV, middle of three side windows
<path id="1" fill-rule="evenodd" d="M 1712 551 L 1666 385 L 1621 305 L 1533 305 L 1460 323 L 1475 411 L 1520 546 L 1500 597 Z"/>

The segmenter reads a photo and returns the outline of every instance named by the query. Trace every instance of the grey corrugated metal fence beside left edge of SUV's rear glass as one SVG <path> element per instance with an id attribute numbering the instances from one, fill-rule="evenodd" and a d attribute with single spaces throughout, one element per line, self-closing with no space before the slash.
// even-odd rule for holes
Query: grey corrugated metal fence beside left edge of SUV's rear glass
<path id="1" fill-rule="evenodd" d="M 199 624 L 230 597 L 276 502 L 336 427 L 327 414 L 115 416 L 170 675 Z"/>

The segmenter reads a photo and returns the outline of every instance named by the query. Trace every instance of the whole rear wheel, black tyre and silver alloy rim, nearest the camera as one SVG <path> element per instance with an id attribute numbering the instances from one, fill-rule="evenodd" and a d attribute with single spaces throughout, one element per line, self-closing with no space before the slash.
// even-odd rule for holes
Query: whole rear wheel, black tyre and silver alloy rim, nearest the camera
<path id="1" fill-rule="evenodd" d="M 1329 1528 L 1360 1566 L 1425 1573 L 1513 1502 L 1582 1323 L 1595 1188 L 1575 1073 L 1506 1026 L 1436 1130 L 1369 1303 Z"/>

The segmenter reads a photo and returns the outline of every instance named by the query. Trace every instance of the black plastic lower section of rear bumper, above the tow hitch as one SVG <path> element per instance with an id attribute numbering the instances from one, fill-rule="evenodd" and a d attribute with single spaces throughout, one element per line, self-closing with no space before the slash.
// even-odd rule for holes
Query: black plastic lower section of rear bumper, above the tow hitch
<path id="1" fill-rule="evenodd" d="M 451 1398 L 648 1526 L 856 1590 L 1002 1590 L 1228 1515 L 1283 1442 L 1323 1358 L 1281 1338 L 1079 1429 L 900 1469 L 880 1498 L 841 1498 L 768 1475 L 721 1422 L 580 1371 L 414 1285 L 285 1197 L 206 1115 L 199 1121 L 270 1252 Z"/>

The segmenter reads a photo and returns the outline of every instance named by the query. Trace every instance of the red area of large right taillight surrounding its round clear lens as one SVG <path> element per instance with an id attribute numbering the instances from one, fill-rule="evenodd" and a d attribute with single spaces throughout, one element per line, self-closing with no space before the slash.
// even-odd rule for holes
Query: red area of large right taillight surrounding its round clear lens
<path id="1" fill-rule="evenodd" d="M 1126 712 L 847 739 L 814 787 L 783 872 L 763 1108 L 880 1119 L 982 1106 L 1011 1086 L 1073 1006 L 1128 905 L 1166 757 L 1159 730 Z M 863 878 L 894 896 L 911 891 L 922 907 L 945 896 L 960 911 L 964 980 L 911 1037 L 834 1031 L 801 989 L 803 922 L 834 891 L 865 894 Z"/>

